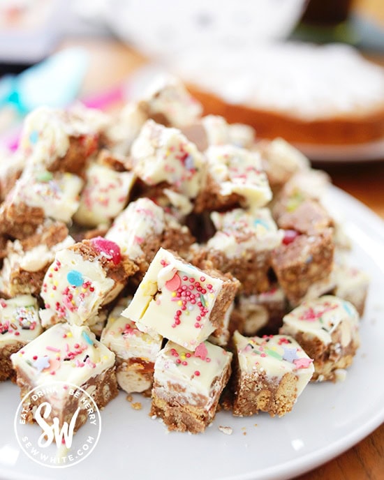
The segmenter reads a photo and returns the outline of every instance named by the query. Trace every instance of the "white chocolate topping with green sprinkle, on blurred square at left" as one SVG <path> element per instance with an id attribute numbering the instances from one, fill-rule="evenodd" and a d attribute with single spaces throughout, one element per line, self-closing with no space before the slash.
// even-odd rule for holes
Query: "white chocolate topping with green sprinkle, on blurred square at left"
<path id="1" fill-rule="evenodd" d="M 26 169 L 7 202 L 40 207 L 46 217 L 68 223 L 79 206 L 82 185 L 82 179 L 71 173 Z"/>

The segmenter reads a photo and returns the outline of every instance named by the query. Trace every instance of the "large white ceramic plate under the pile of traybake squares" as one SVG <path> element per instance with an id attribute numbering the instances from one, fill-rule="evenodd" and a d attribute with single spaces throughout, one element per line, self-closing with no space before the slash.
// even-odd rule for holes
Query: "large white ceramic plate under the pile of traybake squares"
<path id="1" fill-rule="evenodd" d="M 133 410 L 121 393 L 102 412 L 101 437 L 91 455 L 76 466 L 55 470 L 20 451 L 13 431 L 19 391 L 5 382 L 0 385 L 0 478 L 288 479 L 371 433 L 384 421 L 384 224 L 341 190 L 332 188 L 330 197 L 353 240 L 350 263 L 371 275 L 362 346 L 345 382 L 310 384 L 293 412 L 281 419 L 267 414 L 239 419 L 219 412 L 201 435 L 167 433 L 148 417 L 149 401 L 137 396 L 143 408 Z M 221 433 L 219 426 L 232 427 L 232 435 Z"/>

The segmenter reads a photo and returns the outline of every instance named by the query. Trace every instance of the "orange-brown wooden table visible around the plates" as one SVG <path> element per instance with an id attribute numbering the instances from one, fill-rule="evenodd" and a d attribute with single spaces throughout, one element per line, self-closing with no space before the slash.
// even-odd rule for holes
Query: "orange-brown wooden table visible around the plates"
<path id="1" fill-rule="evenodd" d="M 80 97 L 119 86 L 133 70 L 145 63 L 137 53 L 115 40 L 71 40 L 61 47 L 68 45 L 82 45 L 91 56 Z M 336 186 L 384 218 L 384 153 L 382 161 L 317 166 L 331 175 Z M 383 480 L 384 424 L 341 456 L 298 479 Z"/>

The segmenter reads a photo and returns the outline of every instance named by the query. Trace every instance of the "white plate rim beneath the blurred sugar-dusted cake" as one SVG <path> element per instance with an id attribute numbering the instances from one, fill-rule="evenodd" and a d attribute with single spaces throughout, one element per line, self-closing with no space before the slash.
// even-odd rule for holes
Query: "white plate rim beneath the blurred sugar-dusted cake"
<path id="1" fill-rule="evenodd" d="M 384 158 L 384 138 L 357 145 L 295 144 L 295 147 L 311 160 L 327 163 L 363 162 Z"/>

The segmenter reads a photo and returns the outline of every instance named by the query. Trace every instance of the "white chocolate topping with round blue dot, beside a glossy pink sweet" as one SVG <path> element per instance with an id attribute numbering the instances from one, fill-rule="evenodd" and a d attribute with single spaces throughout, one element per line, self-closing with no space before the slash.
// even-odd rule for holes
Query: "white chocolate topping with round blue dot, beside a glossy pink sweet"
<path id="1" fill-rule="evenodd" d="M 43 324 L 49 315 L 71 324 L 84 324 L 98 313 L 114 287 L 115 280 L 106 276 L 96 259 L 87 260 L 71 248 L 60 250 L 45 274 L 41 289 L 48 310 L 40 314 Z"/>

